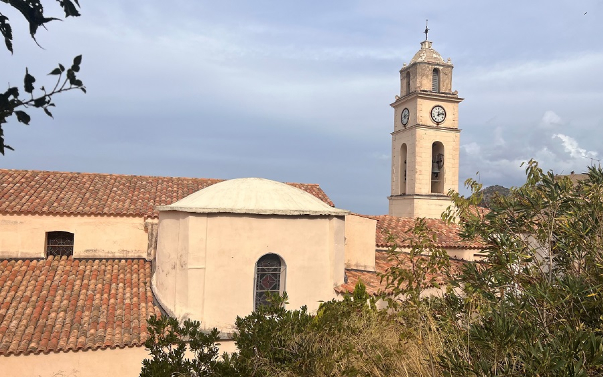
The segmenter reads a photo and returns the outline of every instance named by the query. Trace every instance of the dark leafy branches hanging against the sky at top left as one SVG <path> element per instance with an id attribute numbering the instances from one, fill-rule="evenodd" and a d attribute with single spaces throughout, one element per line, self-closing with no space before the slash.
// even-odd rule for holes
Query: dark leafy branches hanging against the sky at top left
<path id="1" fill-rule="evenodd" d="M 57 0 L 60 7 L 65 11 L 65 17 L 80 16 L 78 0 Z M 18 10 L 29 24 L 31 37 L 36 40 L 36 32 L 39 27 L 44 27 L 49 21 L 59 20 L 55 17 L 46 17 L 41 0 L 0 0 L 8 6 Z M 0 11 L 2 7 L 0 7 Z M 4 38 L 4 44 L 8 51 L 13 52 L 13 30 L 8 17 L 0 13 L 0 34 Z M 37 42 L 36 42 L 37 43 Z M 42 109 L 46 115 L 52 118 L 52 113 L 49 107 L 55 106 L 52 102 L 54 95 L 69 90 L 79 89 L 86 93 L 86 87 L 81 80 L 77 78 L 77 72 L 80 71 L 81 55 L 78 55 L 73 60 L 71 66 L 65 68 L 59 64 L 57 68 L 52 69 L 49 75 L 57 76 L 55 83 L 46 87 L 42 86 L 39 89 L 34 87 L 36 78 L 30 74 L 25 68 L 25 77 L 23 83 L 23 92 L 20 92 L 18 86 L 8 85 L 8 88 L 2 92 L 0 90 L 0 154 L 4 155 L 5 150 L 14 150 L 10 145 L 5 144 L 4 130 L 2 126 L 8 122 L 8 118 L 15 116 L 17 122 L 22 124 L 30 124 L 31 116 L 27 113 L 27 109 L 34 107 Z M 51 89 L 52 88 L 52 89 Z"/>

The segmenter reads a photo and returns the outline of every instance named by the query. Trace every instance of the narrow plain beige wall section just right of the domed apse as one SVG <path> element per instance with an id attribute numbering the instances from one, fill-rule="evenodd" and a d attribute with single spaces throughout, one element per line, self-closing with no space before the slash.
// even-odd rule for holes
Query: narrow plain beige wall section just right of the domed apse
<path id="1" fill-rule="evenodd" d="M 375 270 L 376 227 L 372 218 L 346 216 L 346 268 Z"/>

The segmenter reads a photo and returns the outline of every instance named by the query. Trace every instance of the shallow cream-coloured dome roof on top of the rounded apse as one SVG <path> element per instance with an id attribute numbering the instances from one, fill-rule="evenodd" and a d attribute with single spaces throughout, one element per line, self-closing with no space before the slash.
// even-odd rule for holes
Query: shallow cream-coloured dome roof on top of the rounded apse
<path id="1" fill-rule="evenodd" d="M 259 215 L 335 215 L 350 213 L 333 208 L 301 189 L 263 178 L 226 180 L 201 189 L 158 211 Z"/>

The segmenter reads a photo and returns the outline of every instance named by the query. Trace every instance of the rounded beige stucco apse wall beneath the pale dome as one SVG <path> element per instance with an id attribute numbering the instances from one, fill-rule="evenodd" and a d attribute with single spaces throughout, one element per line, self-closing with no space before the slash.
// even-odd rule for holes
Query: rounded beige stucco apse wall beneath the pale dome
<path id="1" fill-rule="evenodd" d="M 204 328 L 232 331 L 253 310 L 255 264 L 286 264 L 289 308 L 335 297 L 344 279 L 343 217 L 195 214 L 162 211 L 153 288 L 162 306 Z"/>

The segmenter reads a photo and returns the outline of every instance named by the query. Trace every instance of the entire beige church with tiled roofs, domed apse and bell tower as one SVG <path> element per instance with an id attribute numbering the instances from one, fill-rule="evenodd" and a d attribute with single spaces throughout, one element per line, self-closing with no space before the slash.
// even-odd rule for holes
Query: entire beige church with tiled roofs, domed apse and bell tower
<path id="1" fill-rule="evenodd" d="M 455 263 L 479 244 L 439 220 L 458 188 L 452 64 L 429 41 L 400 70 L 388 215 L 335 208 L 320 186 L 265 179 L 123 176 L 0 169 L 0 370 L 6 376 L 133 376 L 147 318 L 218 328 L 268 293 L 289 307 L 370 294 L 427 217 Z"/>

